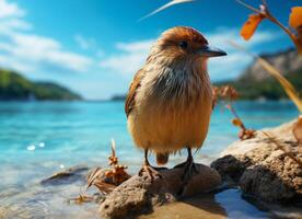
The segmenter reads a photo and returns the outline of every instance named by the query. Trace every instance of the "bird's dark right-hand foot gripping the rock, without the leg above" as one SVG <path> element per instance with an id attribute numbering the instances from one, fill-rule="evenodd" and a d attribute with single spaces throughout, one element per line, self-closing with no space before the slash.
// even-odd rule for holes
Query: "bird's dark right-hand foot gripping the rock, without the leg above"
<path id="1" fill-rule="evenodd" d="M 189 181 L 194 177 L 194 175 L 196 175 L 198 173 L 198 170 L 197 170 L 196 164 L 193 162 L 193 160 L 187 160 L 186 162 L 181 163 L 181 164 L 176 165 L 175 168 L 184 169 L 184 173 L 182 175 L 181 189 L 177 193 L 178 196 L 184 196 Z"/>

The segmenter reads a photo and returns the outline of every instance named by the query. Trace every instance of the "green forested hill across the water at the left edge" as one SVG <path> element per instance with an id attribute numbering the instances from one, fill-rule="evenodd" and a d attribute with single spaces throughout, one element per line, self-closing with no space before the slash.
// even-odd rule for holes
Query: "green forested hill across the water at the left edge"
<path id="1" fill-rule="evenodd" d="M 20 73 L 0 69 L 0 101 L 74 101 L 79 94 L 53 82 L 33 82 Z"/>

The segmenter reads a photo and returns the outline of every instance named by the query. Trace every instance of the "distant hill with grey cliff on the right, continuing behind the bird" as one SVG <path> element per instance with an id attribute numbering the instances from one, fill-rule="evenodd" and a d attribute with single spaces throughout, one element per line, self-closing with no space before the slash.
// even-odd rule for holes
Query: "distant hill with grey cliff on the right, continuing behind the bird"
<path id="1" fill-rule="evenodd" d="M 262 58 L 276 67 L 298 90 L 302 96 L 302 58 L 295 49 L 290 48 L 275 54 L 263 54 Z M 226 72 L 228 73 L 228 72 Z M 214 82 L 213 85 L 230 84 L 234 87 L 242 100 L 281 100 L 288 99 L 279 82 L 257 62 L 253 61 L 235 80 Z M 125 100 L 126 95 L 118 94 L 112 101 Z"/>

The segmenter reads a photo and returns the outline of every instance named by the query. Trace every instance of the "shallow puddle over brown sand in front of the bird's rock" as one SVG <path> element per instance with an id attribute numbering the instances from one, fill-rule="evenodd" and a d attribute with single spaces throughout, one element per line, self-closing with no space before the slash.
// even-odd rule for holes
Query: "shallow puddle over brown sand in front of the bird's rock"
<path id="1" fill-rule="evenodd" d="M 219 194 L 201 194 L 184 201 L 163 206 L 151 215 L 141 219 L 151 218 L 268 218 L 269 212 L 257 210 L 253 205 L 241 198 L 239 189 L 228 189 Z"/>

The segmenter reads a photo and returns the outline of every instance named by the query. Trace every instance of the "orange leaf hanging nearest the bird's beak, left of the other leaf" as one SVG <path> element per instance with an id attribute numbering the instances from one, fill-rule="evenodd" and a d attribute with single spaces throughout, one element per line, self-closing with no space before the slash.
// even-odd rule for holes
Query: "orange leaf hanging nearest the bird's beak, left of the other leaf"
<path id="1" fill-rule="evenodd" d="M 241 28 L 241 36 L 248 41 L 255 33 L 258 24 L 263 21 L 265 16 L 263 14 L 251 14 L 248 20 L 243 24 Z"/>

